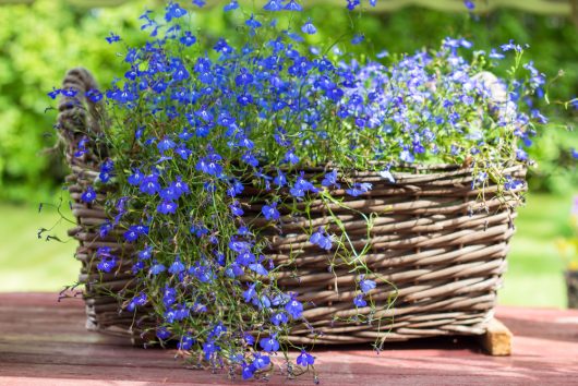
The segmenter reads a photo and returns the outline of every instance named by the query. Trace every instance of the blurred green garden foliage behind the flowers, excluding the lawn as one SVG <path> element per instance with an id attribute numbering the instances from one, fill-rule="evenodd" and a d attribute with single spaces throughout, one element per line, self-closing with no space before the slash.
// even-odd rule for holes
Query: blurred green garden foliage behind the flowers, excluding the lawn
<path id="1" fill-rule="evenodd" d="M 143 41 L 144 33 L 124 36 L 122 32 L 139 28 L 135 13 L 161 3 L 139 0 L 115 8 L 87 9 L 63 0 L 37 0 L 29 5 L 0 7 L 0 200 L 49 200 L 65 174 L 65 168 L 59 150 L 41 154 L 57 143 L 52 128 L 56 112 L 45 111 L 51 105 L 47 93 L 52 86 L 58 87 L 65 71 L 73 67 L 89 69 L 104 86 L 113 76 L 124 73 L 127 68 L 116 58 L 119 46 L 109 46 L 105 37 L 115 32 L 129 45 Z M 215 40 L 221 34 L 234 39 L 234 28 L 228 28 L 234 22 L 230 17 L 217 7 L 203 11 L 195 22 L 205 34 L 214 35 Z M 336 7 L 315 8 L 313 20 L 320 34 L 312 37 L 312 43 L 330 36 L 348 51 L 375 57 L 384 49 L 411 52 L 435 47 L 448 35 L 461 35 L 474 43 L 474 49 L 485 50 L 515 39 L 531 45 L 527 58 L 531 58 L 549 79 L 564 70 L 565 76 L 550 87 L 550 100 L 568 100 L 578 94 L 578 35 L 569 17 L 513 10 L 470 16 L 466 12 L 444 13 L 416 8 L 350 17 Z M 363 44 L 350 44 L 351 33 L 340 28 L 348 24 L 358 25 L 357 29 L 364 32 Z M 322 50 L 328 48 L 320 47 Z M 384 61 L 387 63 L 387 58 Z M 557 105 L 546 108 L 549 116 L 554 114 L 554 124 L 575 124 L 576 110 L 562 111 Z M 556 192 L 578 184 L 567 152 L 570 146 L 578 148 L 578 135 L 569 130 L 552 128 L 543 134 L 540 146 L 532 150 L 541 166 L 537 178 L 530 181 L 534 189 Z M 559 165 L 569 167 L 562 171 Z"/>

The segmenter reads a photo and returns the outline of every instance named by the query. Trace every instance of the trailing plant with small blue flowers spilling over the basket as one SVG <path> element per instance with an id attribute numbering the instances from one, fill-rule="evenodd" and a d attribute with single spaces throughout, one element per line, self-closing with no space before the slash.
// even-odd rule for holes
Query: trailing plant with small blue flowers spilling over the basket
<path id="1" fill-rule="evenodd" d="M 356 275 L 352 310 L 375 307 L 372 293 L 395 284 L 368 268 L 338 216 L 328 209 L 336 227 L 318 227 L 311 207 L 347 207 L 336 191 L 370 195 L 372 183 L 350 171 L 395 183 L 396 171 L 418 164 L 471 166 L 472 189 L 490 180 L 501 192 L 518 188 L 507 168 L 530 162 L 526 148 L 545 118 L 528 101 L 543 93 L 544 75 L 514 41 L 483 52 L 446 38 L 437 50 L 363 59 L 344 53 L 362 44 L 360 34 L 312 46 L 317 29 L 297 0 L 252 10 L 231 1 L 224 11 L 242 21 L 238 43 L 210 41 L 191 25 L 192 7 L 202 5 L 169 2 L 159 16 L 142 14 L 150 35 L 142 47 L 107 37 L 127 72 L 86 93 L 104 106 L 106 130 L 86 133 L 76 156 L 95 143 L 108 149 L 82 201 L 107 208 L 98 232 L 118 237 L 130 258 L 103 246 L 95 262 L 103 276 L 134 275 L 116 293 L 123 310 L 147 313 L 143 336 L 177 341 L 198 365 L 243 378 L 264 377 L 276 362 L 290 376 L 314 372 L 312 347 L 288 337 L 315 304 L 277 284 L 292 263 L 267 255 L 267 230 L 309 218 L 300 240 Z M 510 65 L 510 76 L 496 79 L 494 65 Z M 258 212 L 252 194 L 263 201 Z"/>

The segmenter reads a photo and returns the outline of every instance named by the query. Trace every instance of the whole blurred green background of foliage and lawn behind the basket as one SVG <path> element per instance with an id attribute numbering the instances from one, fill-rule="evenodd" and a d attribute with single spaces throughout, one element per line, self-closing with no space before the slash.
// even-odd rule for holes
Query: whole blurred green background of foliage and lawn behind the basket
<path id="1" fill-rule="evenodd" d="M 388 8 L 387 0 L 380 2 Z M 74 282 L 79 270 L 72 256 L 75 243 L 67 239 L 70 224 L 56 209 L 62 196 L 61 210 L 71 218 L 65 193 L 59 188 L 67 169 L 60 152 L 49 150 L 57 141 L 56 113 L 46 110 L 51 105 L 46 94 L 76 65 L 89 69 L 103 85 L 122 74 L 127 69 L 116 60 L 119 46 L 109 46 L 105 37 L 116 32 L 129 44 L 144 40 L 136 17 L 145 8 L 159 9 L 162 3 L 0 0 L 0 291 L 57 291 Z M 349 40 L 350 33 L 342 26 L 354 25 L 365 34 L 365 44 L 347 48 L 370 55 L 436 47 L 448 35 L 465 36 L 475 49 L 485 50 L 515 39 L 530 45 L 525 55 L 549 79 L 564 70 L 564 76 L 550 86 L 551 100 L 578 95 L 578 29 L 569 2 L 566 8 L 557 2 L 556 8 L 545 0 L 529 0 L 525 3 L 533 12 L 528 13 L 494 7 L 499 1 L 478 1 L 481 12 L 474 14 L 468 14 L 459 0 L 432 3 L 437 10 L 409 7 L 359 17 L 342 11 L 345 0 L 315 5 L 312 16 L 321 35 L 316 38 Z M 234 29 L 228 27 L 230 16 L 221 13 L 220 5 L 194 17 L 209 41 L 221 35 L 234 39 Z M 566 304 L 556 239 L 569 236 L 571 198 L 578 194 L 576 162 L 569 156 L 571 146 L 578 148 L 578 135 L 571 131 L 577 114 L 556 104 L 543 110 L 552 117 L 551 123 L 533 150 L 540 168 L 530 173 L 527 206 L 516 222 L 509 272 L 499 295 L 504 304 Z M 46 203 L 41 212 L 39 203 Z M 46 241 L 48 233 L 37 237 L 39 228 L 52 227 L 49 233 L 63 242 Z"/>

